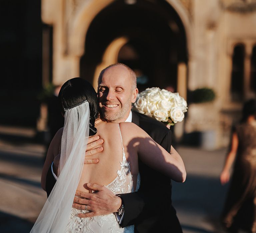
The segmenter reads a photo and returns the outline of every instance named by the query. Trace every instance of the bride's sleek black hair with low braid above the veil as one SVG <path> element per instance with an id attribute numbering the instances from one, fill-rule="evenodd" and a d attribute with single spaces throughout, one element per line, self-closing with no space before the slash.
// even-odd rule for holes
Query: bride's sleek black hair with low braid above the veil
<path id="1" fill-rule="evenodd" d="M 99 116 L 99 107 L 97 93 L 89 82 L 82 78 L 68 80 L 62 85 L 58 99 L 63 114 L 65 113 L 65 109 L 74 108 L 87 101 L 90 108 L 89 136 L 96 134 L 95 119 Z"/>

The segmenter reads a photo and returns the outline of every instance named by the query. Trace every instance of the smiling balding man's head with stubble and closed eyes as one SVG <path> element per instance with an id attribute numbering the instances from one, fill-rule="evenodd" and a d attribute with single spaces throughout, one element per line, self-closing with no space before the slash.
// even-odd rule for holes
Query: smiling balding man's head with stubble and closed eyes
<path id="1" fill-rule="evenodd" d="M 102 116 L 112 122 L 123 122 L 136 101 L 138 89 L 133 89 L 130 71 L 122 65 L 107 68 L 98 86 L 98 100 Z"/>

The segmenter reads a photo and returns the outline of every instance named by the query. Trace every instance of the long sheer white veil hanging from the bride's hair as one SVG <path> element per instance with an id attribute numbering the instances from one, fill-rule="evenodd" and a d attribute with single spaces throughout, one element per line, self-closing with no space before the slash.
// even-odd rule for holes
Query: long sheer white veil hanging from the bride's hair
<path id="1" fill-rule="evenodd" d="M 58 180 L 30 233 L 63 233 L 83 170 L 89 136 L 87 101 L 65 110 Z"/>

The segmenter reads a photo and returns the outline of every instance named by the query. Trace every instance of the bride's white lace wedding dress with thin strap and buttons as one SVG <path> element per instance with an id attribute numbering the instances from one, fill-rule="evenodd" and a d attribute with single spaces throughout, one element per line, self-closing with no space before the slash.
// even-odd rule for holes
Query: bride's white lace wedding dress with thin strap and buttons
<path id="1" fill-rule="evenodd" d="M 129 193 L 133 192 L 133 180 L 132 174 L 130 171 L 129 162 L 127 162 L 125 153 L 124 153 L 124 146 L 123 146 L 123 139 L 122 134 L 119 127 L 121 143 L 122 143 L 122 150 L 123 150 L 123 157 L 122 161 L 120 161 L 120 170 L 117 170 L 117 177 L 106 187 L 111 190 L 114 194 L 120 193 Z M 140 186 L 140 175 L 138 174 L 137 178 L 137 186 L 136 191 Z M 95 216 L 90 218 L 79 218 L 77 214 L 79 213 L 86 213 L 88 210 L 78 210 L 72 208 L 69 223 L 66 229 L 66 233 L 133 233 L 134 226 L 127 226 L 121 228 L 119 223 L 117 222 L 115 214 L 108 214 L 108 215 L 101 215 Z"/>

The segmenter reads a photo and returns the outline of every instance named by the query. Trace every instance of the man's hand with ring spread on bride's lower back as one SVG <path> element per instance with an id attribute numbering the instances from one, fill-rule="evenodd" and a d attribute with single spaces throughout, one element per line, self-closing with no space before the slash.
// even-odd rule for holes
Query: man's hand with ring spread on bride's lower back
<path id="1" fill-rule="evenodd" d="M 122 205 L 122 200 L 112 193 L 107 187 L 98 184 L 87 184 L 87 187 L 94 190 L 93 193 L 76 191 L 73 207 L 81 210 L 90 210 L 91 212 L 78 214 L 80 218 L 93 217 L 97 215 L 106 215 L 118 212 Z"/>

